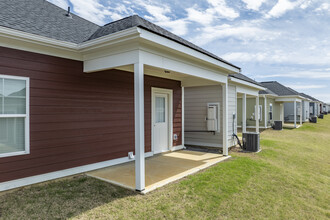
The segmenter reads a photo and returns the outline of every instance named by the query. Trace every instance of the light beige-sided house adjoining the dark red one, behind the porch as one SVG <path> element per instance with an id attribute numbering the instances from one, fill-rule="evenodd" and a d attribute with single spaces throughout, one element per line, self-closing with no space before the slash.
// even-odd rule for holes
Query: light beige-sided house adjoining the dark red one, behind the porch
<path id="1" fill-rule="evenodd" d="M 238 104 L 238 99 L 242 100 L 246 97 L 255 97 L 256 99 L 261 89 L 263 87 L 257 82 L 241 73 L 230 74 L 227 88 L 228 106 L 224 107 L 222 105 L 223 88 L 219 85 L 185 88 L 185 145 L 223 148 L 224 135 L 219 116 L 227 108 L 228 131 L 226 139 L 229 147 L 235 146 L 236 141 L 233 133 L 237 134 L 237 125 L 242 121 L 242 105 Z M 215 117 L 211 115 L 213 108 Z M 210 113 L 210 111 L 212 112 Z M 216 123 L 215 129 L 212 126 L 213 123 Z M 259 128 L 257 131 L 259 132 Z"/>

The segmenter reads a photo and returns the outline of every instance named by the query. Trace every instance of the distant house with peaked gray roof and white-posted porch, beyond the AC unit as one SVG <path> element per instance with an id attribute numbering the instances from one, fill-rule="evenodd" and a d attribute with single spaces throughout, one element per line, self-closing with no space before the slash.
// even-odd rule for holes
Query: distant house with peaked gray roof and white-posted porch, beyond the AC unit
<path id="1" fill-rule="evenodd" d="M 293 122 L 295 128 L 297 127 L 297 121 L 300 121 L 300 125 L 302 125 L 302 102 L 305 99 L 304 97 L 295 90 L 276 81 L 261 82 L 260 84 L 277 95 L 275 102 L 281 105 L 280 111 L 283 113 L 283 118 L 280 118 L 282 118 L 282 121 Z"/>

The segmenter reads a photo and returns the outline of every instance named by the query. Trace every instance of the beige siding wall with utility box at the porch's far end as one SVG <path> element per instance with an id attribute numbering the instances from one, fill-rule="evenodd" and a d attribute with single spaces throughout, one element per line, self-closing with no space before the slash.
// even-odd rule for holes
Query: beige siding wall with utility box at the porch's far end
<path id="1" fill-rule="evenodd" d="M 207 103 L 220 103 L 220 132 L 185 132 L 185 144 L 222 147 L 222 87 L 185 87 L 184 96 L 185 131 L 207 131 Z"/>

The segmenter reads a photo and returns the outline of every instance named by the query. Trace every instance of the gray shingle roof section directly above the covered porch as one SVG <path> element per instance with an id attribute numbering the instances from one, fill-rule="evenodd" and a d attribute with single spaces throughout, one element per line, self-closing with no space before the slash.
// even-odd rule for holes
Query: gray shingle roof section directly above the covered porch
<path id="1" fill-rule="evenodd" d="M 219 60 L 221 62 L 224 62 L 232 67 L 235 67 L 235 68 L 238 68 L 240 69 L 240 67 L 238 66 L 235 66 L 234 64 L 232 63 L 229 63 L 228 61 L 218 57 L 217 55 L 213 54 L 213 53 L 210 53 L 206 50 L 204 50 L 203 48 L 200 48 L 198 46 L 196 46 L 195 44 L 165 30 L 164 28 L 161 28 L 141 17 L 139 17 L 138 15 L 132 15 L 132 16 L 129 16 L 129 17 L 126 17 L 126 18 L 123 18 L 121 20 L 118 20 L 118 21 L 114 21 L 114 22 L 111 22 L 109 24 L 106 24 L 104 25 L 103 27 L 100 27 L 88 40 L 93 40 L 93 39 L 96 39 L 96 38 L 99 38 L 99 37 L 103 37 L 103 36 L 106 36 L 106 35 L 109 35 L 109 34 L 112 34 L 112 33 L 115 33 L 115 32 L 118 32 L 118 31 L 122 31 L 122 30 L 125 30 L 125 29 L 129 29 L 129 28 L 132 28 L 132 27 L 140 27 L 140 28 L 143 28 L 145 30 L 148 30 L 150 32 L 153 32 L 157 35 L 160 35 L 162 37 L 165 37 L 165 38 L 168 38 L 170 40 L 173 40 L 177 43 L 180 43 L 186 47 L 189 47 L 191 49 L 194 49 L 194 50 L 197 50 L 205 55 L 208 55 L 216 60 Z"/>

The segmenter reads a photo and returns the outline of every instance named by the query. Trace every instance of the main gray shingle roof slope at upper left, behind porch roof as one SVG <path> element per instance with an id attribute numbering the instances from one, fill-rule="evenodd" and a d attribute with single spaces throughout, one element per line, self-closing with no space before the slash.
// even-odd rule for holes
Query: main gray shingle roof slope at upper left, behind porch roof
<path id="1" fill-rule="evenodd" d="M 99 26 L 45 0 L 1 0 L 0 26 L 56 40 L 80 43 Z"/>

